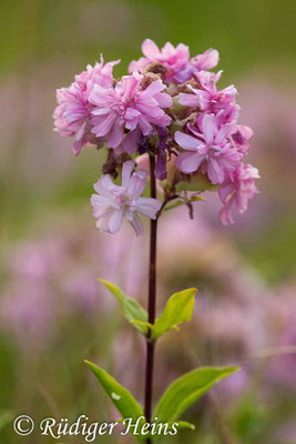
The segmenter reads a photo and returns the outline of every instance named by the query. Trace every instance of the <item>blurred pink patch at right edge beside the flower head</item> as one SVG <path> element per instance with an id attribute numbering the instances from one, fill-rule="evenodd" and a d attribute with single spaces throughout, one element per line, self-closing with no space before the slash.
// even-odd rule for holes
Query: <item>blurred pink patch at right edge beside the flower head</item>
<path id="1" fill-rule="evenodd" d="M 284 83 L 267 82 L 263 74 L 245 79 L 239 90 L 244 103 L 241 115 L 256 133 L 249 161 L 266 172 L 261 181 L 262 193 L 252 203 L 257 209 L 256 215 L 249 213 L 244 218 L 247 224 L 253 219 L 258 222 L 269 219 L 271 211 L 273 219 L 282 218 L 283 210 L 289 211 L 296 203 L 295 193 L 286 192 L 294 183 L 296 90 Z M 263 205 L 268 205 L 269 211 L 267 208 L 261 211 Z"/>

